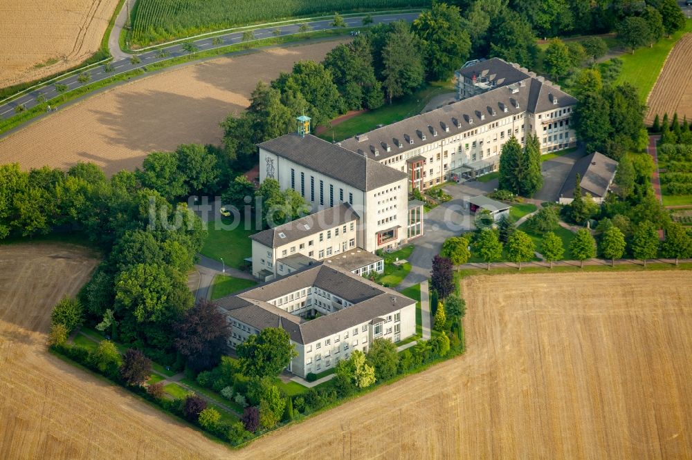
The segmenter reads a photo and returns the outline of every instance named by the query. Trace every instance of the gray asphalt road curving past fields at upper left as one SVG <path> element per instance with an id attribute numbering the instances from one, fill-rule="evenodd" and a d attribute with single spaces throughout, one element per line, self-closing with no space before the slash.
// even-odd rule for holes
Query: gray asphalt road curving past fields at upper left
<path id="1" fill-rule="evenodd" d="M 345 18 L 345 22 L 347 24 L 347 27 L 352 28 L 352 27 L 358 27 L 362 26 L 363 24 L 363 16 L 358 16 L 358 17 L 349 17 Z M 379 16 L 373 16 L 373 24 L 379 24 L 379 23 L 388 23 L 392 21 L 399 21 L 400 19 L 404 21 L 413 21 L 415 18 L 418 17 L 418 13 L 401 13 L 401 14 L 394 14 L 394 15 L 379 15 Z M 330 29 L 336 29 L 334 26 L 331 26 L 331 19 L 325 19 L 322 21 L 312 21 L 312 22 L 307 22 L 307 24 L 311 27 L 310 31 L 314 32 L 317 30 L 330 30 Z M 271 37 L 284 37 L 286 35 L 295 35 L 298 34 L 298 28 L 300 27 L 300 24 L 289 24 L 286 26 L 271 26 L 271 27 L 259 27 L 256 29 L 253 29 L 253 34 L 255 35 L 255 39 L 266 39 L 266 38 L 271 38 Z M 275 30 L 278 30 L 279 32 L 275 32 Z M 229 46 L 232 44 L 239 44 L 241 43 L 243 37 L 243 32 L 231 32 L 226 35 L 219 35 L 217 37 L 208 37 L 208 38 L 203 38 L 199 39 L 196 41 L 192 41 L 194 46 L 196 46 L 200 51 L 205 51 L 205 50 L 212 50 L 215 48 L 223 48 L 224 46 Z M 220 43 L 215 44 L 215 40 L 221 39 Z M 151 50 L 147 52 L 143 52 L 139 55 L 137 55 L 140 59 L 140 63 L 138 64 L 132 64 L 130 61 L 130 57 L 124 57 L 120 59 L 116 59 L 111 61 L 111 66 L 112 69 L 111 72 L 106 72 L 104 70 L 104 66 L 97 66 L 93 68 L 92 70 L 87 70 L 86 73 L 91 76 L 89 79 L 89 82 L 82 83 L 79 81 L 79 75 L 72 75 L 70 77 L 66 77 L 64 79 L 57 80 L 56 82 L 51 83 L 48 86 L 44 86 L 42 88 L 38 88 L 36 90 L 31 91 L 30 93 L 26 93 L 26 95 L 19 97 L 17 99 L 14 99 L 10 102 L 7 102 L 6 104 L 0 105 L 0 119 L 8 119 L 14 115 L 16 115 L 15 108 L 17 106 L 24 106 L 24 108 L 33 108 L 34 106 L 39 105 L 36 101 L 36 98 L 39 95 L 44 95 L 46 100 L 48 101 L 48 104 L 50 104 L 50 99 L 53 99 L 53 97 L 57 97 L 60 95 L 60 93 L 56 90 L 55 85 L 56 84 L 62 84 L 66 85 L 69 90 L 74 90 L 76 88 L 80 88 L 82 86 L 85 86 L 87 84 L 91 84 L 94 82 L 100 82 L 101 80 L 108 79 L 110 77 L 113 77 L 115 75 L 119 75 L 121 73 L 126 73 L 129 72 L 130 70 L 134 70 L 136 68 L 143 68 L 147 65 L 154 64 L 156 62 L 161 62 L 165 61 L 167 59 L 173 59 L 175 57 L 181 57 L 188 55 L 188 52 L 183 49 L 183 43 L 175 44 L 172 46 L 167 46 L 166 48 L 161 48 L 160 50 Z"/>

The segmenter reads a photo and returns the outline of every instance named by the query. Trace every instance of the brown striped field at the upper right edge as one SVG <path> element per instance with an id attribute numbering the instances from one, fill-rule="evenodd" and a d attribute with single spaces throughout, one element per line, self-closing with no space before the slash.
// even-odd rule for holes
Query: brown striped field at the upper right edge
<path id="1" fill-rule="evenodd" d="M 658 76 L 646 102 L 649 107 L 646 114 L 647 124 L 653 123 L 657 114 L 663 117 L 664 113 L 672 117 L 673 113 L 677 112 L 681 120 L 684 116 L 692 119 L 690 68 L 692 68 L 692 33 L 684 35 L 666 59 L 661 75 Z"/>

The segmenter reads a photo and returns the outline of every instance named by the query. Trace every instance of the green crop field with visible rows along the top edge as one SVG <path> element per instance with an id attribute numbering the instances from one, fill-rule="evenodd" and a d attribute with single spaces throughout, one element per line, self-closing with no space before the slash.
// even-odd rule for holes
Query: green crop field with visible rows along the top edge
<path id="1" fill-rule="evenodd" d="M 289 17 L 428 5 L 429 0 L 138 0 L 132 12 L 130 41 L 147 46 L 209 30 Z"/>

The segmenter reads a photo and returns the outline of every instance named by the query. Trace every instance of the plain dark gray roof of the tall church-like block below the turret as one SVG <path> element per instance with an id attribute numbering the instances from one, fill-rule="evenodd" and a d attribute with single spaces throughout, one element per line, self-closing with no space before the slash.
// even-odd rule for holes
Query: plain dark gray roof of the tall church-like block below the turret
<path id="1" fill-rule="evenodd" d="M 371 161 L 355 151 L 313 135 L 302 137 L 298 134 L 286 134 L 258 146 L 362 191 L 408 178 L 408 174 L 402 171 Z"/>

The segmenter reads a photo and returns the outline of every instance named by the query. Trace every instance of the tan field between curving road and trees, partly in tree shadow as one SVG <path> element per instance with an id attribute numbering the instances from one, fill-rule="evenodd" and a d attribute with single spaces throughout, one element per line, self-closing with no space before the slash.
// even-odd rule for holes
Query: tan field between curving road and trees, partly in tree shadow
<path id="1" fill-rule="evenodd" d="M 191 64 L 117 86 L 0 139 L 0 164 L 24 169 L 95 162 L 111 175 L 140 166 L 147 153 L 179 144 L 220 144 L 219 122 L 243 111 L 257 82 L 295 61 L 321 61 L 336 44 L 266 48 Z"/>

